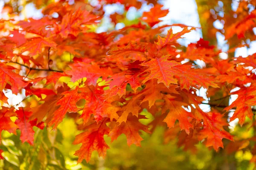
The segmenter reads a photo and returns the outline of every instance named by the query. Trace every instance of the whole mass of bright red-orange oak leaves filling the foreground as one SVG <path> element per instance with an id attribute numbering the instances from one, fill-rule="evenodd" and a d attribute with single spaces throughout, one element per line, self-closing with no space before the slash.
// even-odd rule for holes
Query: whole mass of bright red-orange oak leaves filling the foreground
<path id="1" fill-rule="evenodd" d="M 136 0 L 99 3 L 141 7 Z M 34 126 L 55 130 L 65 116 L 70 117 L 84 131 L 73 142 L 81 144 L 75 153 L 78 162 L 90 161 L 94 150 L 105 157 L 110 149 L 105 135 L 113 142 L 124 133 L 129 146 L 140 146 L 140 131 L 152 133 L 157 126 L 166 127 L 166 141 L 177 136 L 186 150 L 195 151 L 198 142 L 216 151 L 239 145 L 228 122 L 238 118 L 242 126 L 246 118 L 255 121 L 256 55 L 234 57 L 233 52 L 245 46 L 241 40 L 255 26 L 255 11 L 238 10 L 233 23 L 225 14 L 224 35 L 230 49 L 221 51 L 204 39 L 180 45 L 177 40 L 200 28 L 160 26 L 168 9 L 152 0 L 147 3 L 154 7 L 137 24 L 102 33 L 93 30 L 103 18 L 102 6 L 82 0 L 48 3 L 39 20 L 15 19 L 15 11 L 9 20 L 0 20 L 0 131 L 20 130 L 20 140 L 33 145 Z M 223 53 L 228 57 L 221 58 Z M 231 91 L 234 88 L 238 90 Z M 22 105 L 8 105 L 4 95 L 8 89 L 13 94 L 26 90 Z M 200 89 L 207 89 L 206 98 Z M 233 94 L 238 98 L 229 104 Z M 147 119 L 140 114 L 143 110 L 154 116 L 148 125 L 140 122 Z"/>

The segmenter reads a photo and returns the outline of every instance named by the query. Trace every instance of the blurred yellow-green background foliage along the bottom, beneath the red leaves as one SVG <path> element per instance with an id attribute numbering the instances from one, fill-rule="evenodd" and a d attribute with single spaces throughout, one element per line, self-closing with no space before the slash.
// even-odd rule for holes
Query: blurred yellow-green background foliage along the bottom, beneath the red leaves
<path id="1" fill-rule="evenodd" d="M 144 111 L 149 119 L 141 119 L 148 124 L 152 119 L 150 113 Z M 70 115 L 72 116 L 72 115 Z M 249 121 L 247 126 L 249 125 Z M 13 135 L 2 132 L 4 160 L 0 160 L 1 170 L 253 170 L 255 165 L 250 164 L 252 153 L 249 150 L 239 150 L 230 153 L 220 150 L 216 153 L 209 150 L 204 144 L 196 145 L 196 152 L 185 151 L 177 147 L 177 138 L 164 144 L 164 128 L 158 127 L 153 134 L 142 133 L 142 147 L 134 144 L 128 147 L 126 136 L 122 134 L 111 144 L 111 139 L 105 136 L 110 145 L 106 159 L 93 153 L 89 163 L 83 161 L 77 164 L 73 156 L 79 145 L 73 145 L 75 136 L 81 133 L 74 119 L 67 117 L 58 126 L 57 130 L 40 130 L 35 127 L 35 144 L 30 146 L 21 143 L 19 134 Z M 237 126 L 233 134 L 241 138 L 253 136 L 253 128 Z M 234 149 L 234 148 L 233 148 Z M 232 168 L 233 167 L 233 168 Z M 231 170 L 230 169 L 230 170 Z"/>

